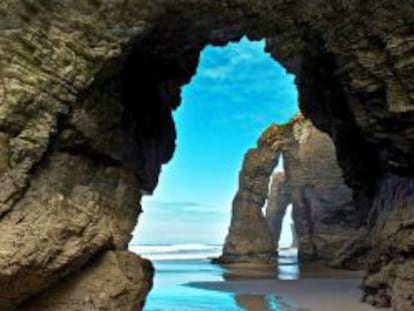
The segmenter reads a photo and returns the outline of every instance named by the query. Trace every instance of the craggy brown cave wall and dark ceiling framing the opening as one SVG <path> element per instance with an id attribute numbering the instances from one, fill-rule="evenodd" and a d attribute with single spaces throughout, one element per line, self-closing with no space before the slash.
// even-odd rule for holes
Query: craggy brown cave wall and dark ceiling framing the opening
<path id="1" fill-rule="evenodd" d="M 171 111 L 201 49 L 247 35 L 296 74 L 303 113 L 335 143 L 358 219 L 375 233 L 369 297 L 409 310 L 398 288 L 414 271 L 412 16 L 410 1 L 393 0 L 2 1 L 3 309 L 87 282 L 75 277 L 87 263 L 127 248 L 140 193 L 173 155 Z M 397 225 L 404 248 L 377 248 Z M 390 263 L 404 273 L 369 280 Z"/>

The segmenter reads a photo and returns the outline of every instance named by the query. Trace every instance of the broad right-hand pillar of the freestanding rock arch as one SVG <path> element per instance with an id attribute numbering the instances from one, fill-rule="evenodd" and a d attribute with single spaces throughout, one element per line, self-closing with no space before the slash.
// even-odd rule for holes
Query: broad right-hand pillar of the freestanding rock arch
<path id="1" fill-rule="evenodd" d="M 300 254 L 331 262 L 359 229 L 352 192 L 332 140 L 307 121 L 294 124 L 293 131 L 298 145 L 287 147 L 284 155 Z"/>

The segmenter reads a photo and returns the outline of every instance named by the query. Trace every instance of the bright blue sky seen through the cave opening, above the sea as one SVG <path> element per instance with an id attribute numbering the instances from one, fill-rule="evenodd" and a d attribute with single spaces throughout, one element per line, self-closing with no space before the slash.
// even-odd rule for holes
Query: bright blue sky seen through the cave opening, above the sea
<path id="1" fill-rule="evenodd" d="M 247 149 L 271 123 L 298 111 L 294 77 L 242 39 L 208 46 L 174 113 L 177 150 L 143 200 L 132 244 L 221 244 Z"/>

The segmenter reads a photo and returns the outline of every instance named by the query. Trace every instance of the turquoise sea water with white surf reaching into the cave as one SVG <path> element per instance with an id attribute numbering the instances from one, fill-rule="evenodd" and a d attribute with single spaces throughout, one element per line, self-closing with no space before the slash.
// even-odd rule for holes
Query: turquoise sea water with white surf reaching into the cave
<path id="1" fill-rule="evenodd" d="M 225 282 L 231 273 L 210 263 L 221 253 L 221 245 L 177 244 L 130 246 L 130 250 L 151 259 L 155 269 L 154 287 L 145 311 L 281 311 L 273 295 L 243 295 L 197 288 L 192 283 Z M 266 278 L 295 279 L 298 268 L 294 251 L 281 256 L 279 270 L 267 271 Z M 262 276 L 263 277 L 263 276 Z M 247 297 L 248 296 L 248 297 Z M 265 306 L 254 310 L 255 305 Z"/>

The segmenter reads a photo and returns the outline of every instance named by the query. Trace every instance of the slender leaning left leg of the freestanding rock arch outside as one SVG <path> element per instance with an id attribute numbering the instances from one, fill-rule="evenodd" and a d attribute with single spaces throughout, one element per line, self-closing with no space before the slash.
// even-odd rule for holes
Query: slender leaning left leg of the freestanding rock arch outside
<path id="1" fill-rule="evenodd" d="M 233 200 L 229 233 L 223 254 L 215 260 L 222 264 L 273 263 L 275 242 L 263 217 L 269 176 L 279 159 L 280 139 L 276 125 L 260 137 L 257 147 L 250 149 L 243 161 L 239 188 Z"/>

